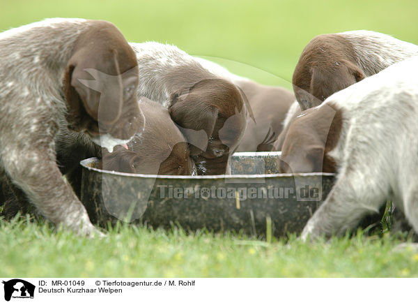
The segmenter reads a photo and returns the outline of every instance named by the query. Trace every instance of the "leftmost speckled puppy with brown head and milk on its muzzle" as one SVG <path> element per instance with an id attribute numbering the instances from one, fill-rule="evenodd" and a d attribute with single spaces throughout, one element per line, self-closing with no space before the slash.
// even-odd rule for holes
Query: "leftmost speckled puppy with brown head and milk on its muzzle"
<path id="1" fill-rule="evenodd" d="M 0 52 L 0 172 L 47 219 L 95 232 L 54 139 L 67 125 L 109 149 L 134 135 L 143 121 L 132 48 L 109 22 L 57 18 L 4 31 Z"/>

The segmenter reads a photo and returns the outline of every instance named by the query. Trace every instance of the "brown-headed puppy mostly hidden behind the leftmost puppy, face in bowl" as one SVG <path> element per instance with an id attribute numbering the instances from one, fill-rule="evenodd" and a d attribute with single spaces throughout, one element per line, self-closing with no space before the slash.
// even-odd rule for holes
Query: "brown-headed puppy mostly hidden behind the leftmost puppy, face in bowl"
<path id="1" fill-rule="evenodd" d="M 70 156 L 73 153 L 70 160 L 63 157 L 59 163 L 61 170 L 67 172 L 65 177 L 76 192 L 79 193 L 81 189 L 81 170 L 78 169 L 78 163 L 72 162 L 73 158 L 83 156 L 102 155 L 101 168 L 104 170 L 147 175 L 196 175 L 196 167 L 189 156 L 187 142 L 171 120 L 167 108 L 144 97 L 139 101 L 139 108 L 146 117 L 144 131 L 138 130 L 141 135 L 134 136 L 125 147 L 116 146 L 111 153 L 107 149 L 100 153 L 98 149 L 93 148 L 95 145 L 88 145 L 88 142 L 83 142 L 77 135 L 71 136 L 72 133 L 65 129 L 57 135 L 56 142 L 62 149 L 61 156 Z M 8 184 L 3 185 L 0 184 L 2 216 L 12 219 L 18 211 L 23 214 L 36 214 L 36 210 L 31 209 L 24 197 L 13 193 Z"/>

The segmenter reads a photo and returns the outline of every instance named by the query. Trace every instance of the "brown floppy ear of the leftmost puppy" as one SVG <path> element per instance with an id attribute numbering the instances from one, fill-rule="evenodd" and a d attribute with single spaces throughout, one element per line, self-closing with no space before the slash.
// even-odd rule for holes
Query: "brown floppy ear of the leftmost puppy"
<path id="1" fill-rule="evenodd" d="M 84 105 L 86 112 L 96 121 L 100 119 L 105 124 L 114 124 L 121 117 L 123 108 L 123 82 L 116 50 L 108 61 L 94 60 L 99 59 L 85 58 L 79 53 L 73 56 L 65 75 L 65 96 L 73 114 L 79 114 L 80 106 Z M 116 71 L 116 75 L 109 75 L 110 71 Z M 134 83 L 137 79 L 129 75 L 127 80 Z"/>

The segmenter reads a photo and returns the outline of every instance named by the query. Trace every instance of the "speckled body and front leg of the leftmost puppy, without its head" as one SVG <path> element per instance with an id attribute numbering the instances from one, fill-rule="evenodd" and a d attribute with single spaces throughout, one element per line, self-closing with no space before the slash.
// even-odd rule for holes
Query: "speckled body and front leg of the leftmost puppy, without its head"
<path id="1" fill-rule="evenodd" d="M 66 114 L 62 77 L 88 29 L 88 20 L 54 18 L 0 33 L 0 181 L 7 172 L 48 219 L 82 234 L 97 231 L 62 179 L 54 138 Z"/>

